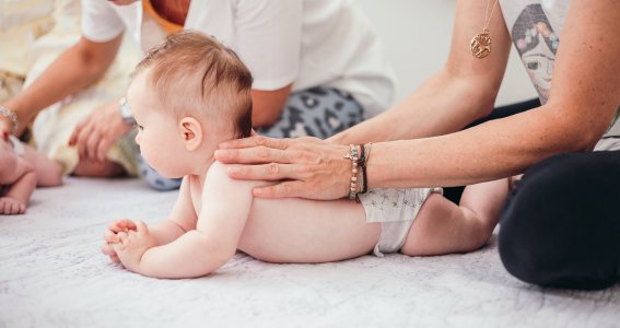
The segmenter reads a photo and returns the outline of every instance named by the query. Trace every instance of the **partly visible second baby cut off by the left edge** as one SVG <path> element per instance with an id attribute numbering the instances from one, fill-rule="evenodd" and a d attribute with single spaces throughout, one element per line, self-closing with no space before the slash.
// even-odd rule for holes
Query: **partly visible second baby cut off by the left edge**
<path id="1" fill-rule="evenodd" d="M 0 214 L 23 214 L 37 185 L 59 186 L 62 172 L 58 163 L 1 131 Z"/>

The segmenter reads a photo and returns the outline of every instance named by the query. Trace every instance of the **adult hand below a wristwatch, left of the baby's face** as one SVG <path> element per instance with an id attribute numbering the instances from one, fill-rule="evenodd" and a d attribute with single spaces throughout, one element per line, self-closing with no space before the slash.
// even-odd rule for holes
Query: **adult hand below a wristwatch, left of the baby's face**
<path id="1" fill-rule="evenodd" d="M 118 110 L 118 101 L 100 106 L 78 126 L 69 145 L 78 147 L 80 159 L 105 161 L 109 148 L 131 129 Z"/>

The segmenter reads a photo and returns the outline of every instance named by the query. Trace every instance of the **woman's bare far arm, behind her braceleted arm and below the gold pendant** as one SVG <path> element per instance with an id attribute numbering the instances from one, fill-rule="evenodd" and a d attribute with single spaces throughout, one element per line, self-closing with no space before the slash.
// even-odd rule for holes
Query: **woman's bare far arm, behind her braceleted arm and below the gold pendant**
<path id="1" fill-rule="evenodd" d="M 486 1 L 459 1 L 444 68 L 400 104 L 329 141 L 348 144 L 441 136 L 458 131 L 491 113 L 511 39 L 498 8 L 489 27 L 493 42 L 491 55 L 484 59 L 471 56 L 468 45 L 481 32 L 484 12 Z"/>

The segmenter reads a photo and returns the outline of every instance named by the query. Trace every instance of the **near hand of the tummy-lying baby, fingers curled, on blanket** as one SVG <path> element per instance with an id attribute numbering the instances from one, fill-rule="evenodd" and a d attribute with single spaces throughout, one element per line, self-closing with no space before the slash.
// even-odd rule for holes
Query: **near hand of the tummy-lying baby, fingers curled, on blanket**
<path id="1" fill-rule="evenodd" d="M 116 256 L 126 269 L 138 272 L 140 259 L 144 251 L 157 246 L 157 241 L 149 234 L 149 229 L 144 222 L 138 222 L 137 230 L 119 232 L 118 243 L 112 244 Z"/>

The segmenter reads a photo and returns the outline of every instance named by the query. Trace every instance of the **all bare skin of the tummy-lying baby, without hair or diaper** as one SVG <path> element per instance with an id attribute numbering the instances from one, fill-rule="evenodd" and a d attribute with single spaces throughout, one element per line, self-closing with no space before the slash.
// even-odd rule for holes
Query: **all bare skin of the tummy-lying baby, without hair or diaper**
<path id="1" fill-rule="evenodd" d="M 109 225 L 102 251 L 113 261 L 149 277 L 192 278 L 213 272 L 237 249 L 271 262 L 326 262 L 369 254 L 377 244 L 381 224 L 367 223 L 358 202 L 255 198 L 254 187 L 271 183 L 232 179 L 229 167 L 213 159 L 218 144 L 232 137 L 230 129 L 166 112 L 148 78 L 148 71 L 140 73 L 128 92 L 140 126 L 136 141 L 157 172 L 185 178 L 168 220 L 150 227 L 129 219 Z M 506 179 L 470 186 L 460 207 L 431 195 L 401 251 L 442 255 L 481 247 L 507 189 Z"/>

